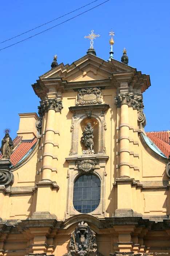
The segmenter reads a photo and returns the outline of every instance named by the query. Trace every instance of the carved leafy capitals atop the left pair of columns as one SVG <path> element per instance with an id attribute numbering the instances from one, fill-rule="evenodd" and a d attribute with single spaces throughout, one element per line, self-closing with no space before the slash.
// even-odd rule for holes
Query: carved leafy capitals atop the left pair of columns
<path id="1" fill-rule="evenodd" d="M 62 101 L 57 101 L 57 99 L 45 99 L 40 101 L 40 106 L 38 106 L 39 116 L 44 116 L 45 112 L 48 112 L 49 109 L 54 109 L 55 112 L 61 112 L 63 109 Z"/>

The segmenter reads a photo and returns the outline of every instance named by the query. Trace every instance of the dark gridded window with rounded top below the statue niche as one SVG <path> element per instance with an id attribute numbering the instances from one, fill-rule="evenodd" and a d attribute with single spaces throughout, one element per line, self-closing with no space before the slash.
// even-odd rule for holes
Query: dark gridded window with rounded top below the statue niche
<path id="1" fill-rule="evenodd" d="M 100 203 L 100 180 L 94 174 L 82 175 L 74 183 L 73 205 L 81 213 L 94 211 Z"/>

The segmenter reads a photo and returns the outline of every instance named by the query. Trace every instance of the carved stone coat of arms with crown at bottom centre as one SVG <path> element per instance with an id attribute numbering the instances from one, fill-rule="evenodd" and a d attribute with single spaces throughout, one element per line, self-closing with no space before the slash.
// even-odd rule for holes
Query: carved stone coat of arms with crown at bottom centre
<path id="1" fill-rule="evenodd" d="M 99 256 L 95 232 L 82 221 L 70 237 L 70 251 L 65 256 Z M 63 255 L 63 256 L 64 256 Z"/>

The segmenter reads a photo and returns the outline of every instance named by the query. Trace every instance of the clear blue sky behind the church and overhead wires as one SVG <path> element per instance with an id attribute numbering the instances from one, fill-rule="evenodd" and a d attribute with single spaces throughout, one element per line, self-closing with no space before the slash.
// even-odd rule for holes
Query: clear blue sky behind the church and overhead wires
<path id="1" fill-rule="evenodd" d="M 104 0 L 82 8 L 70 15 L 33 30 L 20 37 L 0 44 L 0 49 L 26 37 L 55 26 L 80 14 Z M 9 39 L 29 29 L 58 18 L 90 3 L 84 1 L 57 0 L 9 0 L 1 2 L 0 41 Z M 109 58 L 109 32 L 114 36 L 114 59 L 121 60 L 122 50 L 127 49 L 129 65 L 150 75 L 151 87 L 143 93 L 145 131 L 170 129 L 170 1 L 129 0 L 114 1 L 96 7 L 60 26 L 46 31 L 7 49 L 0 50 L 1 61 L 1 122 L 0 134 L 11 128 L 12 139 L 19 128 L 18 113 L 37 112 L 40 99 L 31 84 L 51 69 L 53 55 L 58 63 L 71 64 L 86 54 L 90 40 L 85 39 L 93 29 L 100 34 L 94 41 L 98 57 Z"/>

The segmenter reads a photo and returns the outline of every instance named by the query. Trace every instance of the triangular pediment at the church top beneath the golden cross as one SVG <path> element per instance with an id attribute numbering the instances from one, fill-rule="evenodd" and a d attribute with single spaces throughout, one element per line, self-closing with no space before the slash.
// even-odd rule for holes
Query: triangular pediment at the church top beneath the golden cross
<path id="1" fill-rule="evenodd" d="M 120 61 L 112 59 L 105 61 L 90 53 L 79 60 L 74 61 L 71 65 L 59 64 L 50 71 L 40 76 L 40 79 L 62 78 L 67 82 L 89 81 L 108 79 L 114 72 L 134 71 L 135 68 L 123 64 Z"/>

